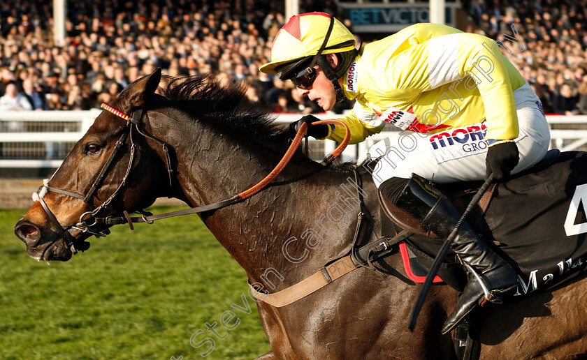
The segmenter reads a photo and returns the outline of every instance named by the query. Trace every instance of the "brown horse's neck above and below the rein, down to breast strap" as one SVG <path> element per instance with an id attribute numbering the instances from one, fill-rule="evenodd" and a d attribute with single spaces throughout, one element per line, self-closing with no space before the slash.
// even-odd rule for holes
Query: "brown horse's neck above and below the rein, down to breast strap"
<path id="1" fill-rule="evenodd" d="M 202 136 L 197 144 L 178 145 L 177 156 L 178 178 L 192 206 L 246 190 L 280 158 L 217 134 Z M 251 280 L 261 280 L 271 268 L 280 274 L 273 275 L 280 287 L 291 285 L 349 248 L 359 211 L 353 174 L 326 169 L 299 179 L 313 168 L 307 160 L 293 160 L 260 193 L 203 218 Z M 365 185 L 374 188 L 370 181 Z"/>

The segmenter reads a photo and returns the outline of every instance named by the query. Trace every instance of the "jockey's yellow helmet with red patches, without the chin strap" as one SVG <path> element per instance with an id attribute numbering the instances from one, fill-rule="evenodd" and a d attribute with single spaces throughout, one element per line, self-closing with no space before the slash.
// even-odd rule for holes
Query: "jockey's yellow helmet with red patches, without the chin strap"
<path id="1" fill-rule="evenodd" d="M 271 48 L 271 62 L 262 65 L 259 70 L 263 73 L 277 74 L 280 78 L 286 78 L 289 70 L 297 68 L 310 57 L 315 57 L 323 47 L 331 16 L 326 13 L 305 13 L 293 15 L 289 18 L 275 40 Z M 333 54 L 354 50 L 355 38 L 353 34 L 342 24 L 334 19 L 333 27 L 328 36 L 324 50 L 320 54 Z M 291 64 L 284 67 L 281 65 Z M 278 68 L 276 71 L 275 68 Z M 280 71 L 280 68 L 283 70 Z M 285 70 L 285 73 L 284 73 Z"/>

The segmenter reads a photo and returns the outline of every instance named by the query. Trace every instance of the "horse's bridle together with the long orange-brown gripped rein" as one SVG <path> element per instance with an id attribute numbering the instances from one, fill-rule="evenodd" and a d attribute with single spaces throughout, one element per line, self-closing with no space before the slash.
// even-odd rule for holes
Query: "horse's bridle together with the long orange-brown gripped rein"
<path id="1" fill-rule="evenodd" d="M 268 174 L 263 180 L 259 181 L 259 183 L 256 183 L 251 188 L 248 188 L 247 190 L 242 191 L 241 193 L 238 193 L 237 195 L 231 197 L 230 199 L 215 202 L 213 204 L 203 205 L 201 207 L 194 207 L 194 208 L 189 208 L 189 209 L 183 209 L 180 211 L 172 211 L 172 212 L 168 212 L 168 213 L 160 213 L 157 215 L 152 215 L 151 213 L 147 213 L 145 211 L 138 211 L 138 213 L 140 213 L 142 216 L 131 217 L 131 216 L 129 216 L 129 213 L 126 210 L 124 210 L 123 211 L 124 216 L 107 216 L 105 218 L 99 218 L 99 217 L 96 217 L 96 214 L 99 213 L 99 211 L 101 211 L 102 209 L 106 209 L 106 207 L 108 207 L 108 205 L 113 201 L 115 196 L 120 193 L 122 188 L 124 188 L 124 185 L 126 184 L 126 179 L 128 179 L 129 174 L 131 172 L 131 169 L 133 167 L 133 163 L 134 163 L 133 160 L 134 160 L 134 157 L 136 154 L 136 143 L 133 140 L 133 129 L 134 129 L 134 131 L 136 131 L 140 135 L 143 135 L 143 137 L 146 137 L 147 139 L 150 139 L 150 140 L 154 140 L 159 145 L 161 145 L 161 147 L 164 151 L 165 157 L 166 157 L 166 167 L 167 167 L 167 172 L 168 172 L 168 177 L 169 177 L 169 186 L 171 187 L 173 185 L 173 179 L 172 179 L 173 170 L 171 168 L 171 158 L 169 156 L 169 151 L 168 151 L 169 145 L 166 144 L 166 142 L 163 142 L 163 141 L 145 133 L 143 130 L 140 130 L 140 125 L 142 124 L 141 119 L 143 118 L 143 113 L 145 113 L 144 107 L 140 107 L 138 110 L 133 112 L 133 114 L 131 116 L 126 115 L 123 112 L 120 112 L 119 110 L 116 110 L 114 107 L 111 107 L 110 105 L 108 105 L 106 103 L 102 103 L 101 107 L 103 110 L 111 112 L 111 113 L 115 114 L 117 117 L 120 117 L 120 118 L 126 120 L 126 128 L 124 129 L 124 132 L 120 136 L 119 140 L 116 142 L 113 151 L 110 153 L 110 156 L 108 157 L 108 160 L 106 160 L 106 163 L 104 163 L 104 165 L 102 166 L 102 169 L 99 172 L 96 179 L 94 180 L 94 183 L 92 183 L 92 186 L 90 187 L 88 193 L 86 195 L 80 195 L 78 193 L 73 193 L 68 190 L 61 190 L 59 188 L 53 188 L 53 187 L 49 186 L 48 180 L 45 180 L 45 181 L 43 181 L 43 186 L 41 186 L 41 188 L 39 188 L 37 190 L 37 192 L 33 194 L 33 199 L 41 203 L 41 207 L 43 207 L 43 210 L 45 211 L 45 213 L 47 213 L 48 218 L 51 220 L 52 224 L 56 227 L 59 234 L 61 234 L 61 237 L 63 237 L 63 239 L 66 241 L 67 246 L 70 248 L 71 252 L 74 254 L 78 252 L 77 250 L 82 250 L 82 251 L 87 250 L 87 248 L 89 248 L 89 243 L 87 243 L 81 239 L 75 239 L 75 237 L 73 237 L 71 232 L 69 232 L 69 230 L 71 230 L 71 229 L 79 230 L 80 232 L 88 233 L 90 235 L 95 235 L 96 237 L 106 237 L 106 235 L 110 234 L 110 230 L 108 230 L 108 229 L 94 230 L 94 229 L 92 229 L 92 227 L 94 227 L 97 224 L 119 225 L 119 224 L 128 223 L 129 226 L 131 227 L 131 230 L 133 230 L 134 229 L 133 223 L 149 223 L 149 224 L 151 224 L 155 220 L 160 220 L 163 218 L 171 218 L 174 216 L 189 215 L 189 214 L 193 214 L 193 213 L 202 213 L 204 211 L 212 211 L 212 210 L 222 209 L 223 207 L 228 207 L 229 205 L 236 204 L 238 202 L 242 202 L 247 197 L 251 197 L 252 195 L 258 193 L 260 190 L 265 188 L 271 181 L 273 181 L 273 179 L 275 179 L 275 177 L 277 177 L 278 174 L 280 174 L 280 172 L 284 169 L 284 167 L 287 165 L 287 163 L 289 163 L 289 160 L 291 160 L 291 158 L 293 157 L 293 154 L 296 152 L 296 149 L 299 147 L 300 142 L 303 140 L 303 137 L 305 137 L 305 133 L 307 130 L 307 123 L 303 123 L 302 126 L 300 126 L 300 129 L 298 130 L 296 137 L 294 137 L 293 141 L 291 142 L 291 144 L 289 146 L 289 149 L 287 149 L 282 160 L 280 160 L 280 163 L 277 164 L 277 166 L 273 169 L 273 171 L 270 172 L 270 174 Z M 333 120 L 333 119 L 315 121 L 311 125 L 314 126 L 314 125 L 321 125 L 321 124 L 335 124 L 335 125 L 344 127 L 345 131 L 346 131 L 345 139 L 338 145 L 338 147 L 333 152 L 329 153 L 328 156 L 326 156 L 326 158 L 324 158 L 324 160 L 322 160 L 321 165 L 326 166 L 326 165 L 330 165 L 335 160 L 335 158 L 340 156 L 340 153 L 342 153 L 342 151 L 347 147 L 347 145 L 349 144 L 349 140 L 350 140 L 350 131 L 345 123 L 343 123 L 342 121 Z M 131 147 L 130 147 L 130 154 L 131 155 L 129 158 L 129 164 L 126 167 L 126 172 L 124 174 L 124 177 L 122 178 L 122 181 L 120 182 L 119 186 L 114 191 L 114 193 L 112 195 L 110 195 L 110 197 L 108 197 L 108 199 L 105 202 L 103 202 L 99 207 L 96 207 L 94 209 L 92 204 L 90 203 L 90 201 L 94 197 L 94 194 L 96 193 L 96 190 L 98 190 L 104 177 L 106 177 L 106 174 L 108 173 L 108 170 L 110 169 L 110 165 L 112 165 L 117 153 L 122 148 L 122 145 L 124 145 L 126 143 L 127 137 L 129 137 L 131 140 Z M 68 195 L 71 197 L 76 197 L 76 198 L 82 200 L 83 202 L 85 202 L 85 204 L 87 204 L 87 206 L 91 210 L 86 211 L 85 213 L 82 213 L 82 215 L 80 216 L 80 221 L 78 223 L 76 223 L 75 225 L 68 225 L 66 227 L 63 227 L 59 223 L 59 220 L 57 220 L 55 215 L 49 209 L 48 205 L 43 200 L 43 197 L 47 193 L 50 193 L 50 192 Z M 92 217 L 94 217 L 94 223 L 92 223 L 92 224 L 88 224 L 87 221 L 84 220 L 85 218 L 89 219 Z"/>

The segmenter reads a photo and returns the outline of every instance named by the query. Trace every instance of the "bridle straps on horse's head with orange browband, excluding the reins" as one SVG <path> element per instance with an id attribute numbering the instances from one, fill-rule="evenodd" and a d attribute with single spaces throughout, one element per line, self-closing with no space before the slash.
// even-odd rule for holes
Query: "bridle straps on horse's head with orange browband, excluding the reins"
<path id="1" fill-rule="evenodd" d="M 84 218 L 86 218 L 86 219 L 91 218 L 92 216 L 95 216 L 97 213 L 99 213 L 99 211 L 101 211 L 102 209 L 105 209 L 106 207 L 108 207 L 108 205 L 113 201 L 113 199 L 116 197 L 116 195 L 118 195 L 120 190 L 122 190 L 122 188 L 124 187 L 124 185 L 126 183 L 126 179 L 129 177 L 129 174 L 130 174 L 131 169 L 133 167 L 133 162 L 134 162 L 133 160 L 134 160 L 134 157 L 136 154 L 136 143 L 133 140 L 133 129 L 136 130 L 136 132 L 138 132 L 140 135 L 143 135 L 144 137 L 147 137 L 151 140 L 154 140 L 155 142 L 158 142 L 161 145 L 161 147 L 163 148 L 163 151 L 165 153 L 165 157 L 166 157 L 166 162 L 167 162 L 166 165 L 167 165 L 167 172 L 168 172 L 168 176 L 169 176 L 170 186 L 172 183 L 171 174 L 172 174 L 173 170 L 171 170 L 171 158 L 169 157 L 168 145 L 165 142 L 163 142 L 159 139 L 156 139 L 155 137 L 152 137 L 151 135 L 148 135 L 148 134 L 144 133 L 142 130 L 140 130 L 139 125 L 141 123 L 140 120 L 143 117 L 144 107 L 140 107 L 138 110 L 133 112 L 133 114 L 130 117 L 129 117 L 129 115 L 126 115 L 123 112 L 116 110 L 115 108 L 111 107 L 110 105 L 108 105 L 106 103 L 102 103 L 101 107 L 103 110 L 111 112 L 111 113 L 115 114 L 117 117 L 121 117 L 122 119 L 126 120 L 126 128 L 124 129 L 124 132 L 120 136 L 119 140 L 116 142 L 113 151 L 110 153 L 110 156 L 108 157 L 108 160 L 106 160 L 106 163 L 104 163 L 104 165 L 102 166 L 102 169 L 100 170 L 98 176 L 94 180 L 94 183 L 92 183 L 92 186 L 89 188 L 89 191 L 87 192 L 87 194 L 80 195 L 80 194 L 73 193 L 68 190 L 61 190 L 59 188 L 52 188 L 49 186 L 48 180 L 43 181 L 43 186 L 41 186 L 41 188 L 39 188 L 36 193 L 33 193 L 33 200 L 41 203 L 41 207 L 43 207 L 43 210 L 45 210 L 45 213 L 47 213 L 47 216 L 51 220 L 51 223 L 55 226 L 55 228 L 57 228 L 57 231 L 59 232 L 59 234 L 61 234 L 61 237 L 63 237 L 63 239 L 67 243 L 67 246 L 70 248 L 71 252 L 74 254 L 78 252 L 77 251 L 78 249 L 82 250 L 82 251 L 87 250 L 87 248 L 89 248 L 89 245 L 88 245 L 88 243 L 86 243 L 83 240 L 75 239 L 75 237 L 73 237 L 73 235 L 71 235 L 71 233 L 68 230 L 70 230 L 70 229 L 80 230 L 81 232 L 87 232 L 88 234 L 95 235 L 96 237 L 106 237 L 106 235 L 110 234 L 110 230 L 108 230 L 108 229 L 93 230 L 92 227 L 94 227 L 98 222 L 96 221 L 93 224 L 88 224 L 86 222 L 86 220 L 84 220 Z M 122 178 L 122 181 L 120 182 L 120 184 L 117 187 L 117 189 L 115 190 L 115 192 L 112 195 L 110 195 L 110 197 L 108 197 L 108 199 L 105 202 L 103 202 L 99 207 L 96 207 L 94 209 L 94 207 L 92 206 L 90 201 L 94 197 L 96 190 L 98 190 L 100 183 L 102 182 L 104 177 L 106 177 L 106 174 L 108 173 L 108 170 L 110 169 L 110 165 L 112 165 L 117 153 L 122 148 L 122 145 L 125 144 L 126 137 L 130 137 L 130 140 L 131 140 L 131 148 L 130 148 L 131 155 L 129 158 L 129 165 L 126 167 L 126 172 L 124 174 L 124 177 Z M 50 192 L 59 193 L 59 194 L 68 195 L 71 197 L 78 198 L 78 199 L 82 200 L 83 202 L 85 202 L 85 204 L 87 204 L 87 206 L 91 210 L 86 211 L 85 213 L 82 213 L 82 215 L 80 216 L 80 221 L 77 224 L 69 225 L 68 227 L 64 228 L 63 226 L 61 226 L 61 224 L 59 223 L 59 221 L 57 220 L 55 215 L 49 209 L 47 203 L 43 200 L 43 197 L 47 193 L 50 193 Z M 127 218 L 129 217 L 129 215 L 126 211 L 124 211 L 124 215 Z M 145 215 L 143 214 L 143 217 L 144 216 Z"/>

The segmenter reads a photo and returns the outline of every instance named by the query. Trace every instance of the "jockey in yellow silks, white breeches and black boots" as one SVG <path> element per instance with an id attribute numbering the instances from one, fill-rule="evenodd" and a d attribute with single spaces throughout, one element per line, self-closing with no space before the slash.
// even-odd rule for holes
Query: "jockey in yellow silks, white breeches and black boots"
<path id="1" fill-rule="evenodd" d="M 272 61 L 259 68 L 291 80 L 324 110 L 345 98 L 354 108 L 338 120 L 351 143 L 400 128 L 370 149 L 379 192 L 446 239 L 461 214 L 435 183 L 496 181 L 541 160 L 550 143 L 542 105 L 495 41 L 439 24 L 415 24 L 355 47 L 352 33 L 325 13 L 295 15 L 273 42 Z M 291 124 L 292 132 L 307 115 Z M 310 126 L 308 135 L 341 141 L 343 128 Z M 416 175 L 417 174 L 417 175 Z M 469 281 L 444 323 L 451 331 L 484 297 L 518 285 L 516 272 L 463 223 L 451 248 Z"/>

